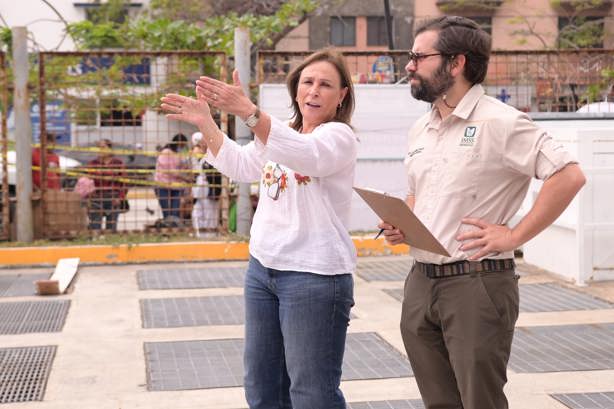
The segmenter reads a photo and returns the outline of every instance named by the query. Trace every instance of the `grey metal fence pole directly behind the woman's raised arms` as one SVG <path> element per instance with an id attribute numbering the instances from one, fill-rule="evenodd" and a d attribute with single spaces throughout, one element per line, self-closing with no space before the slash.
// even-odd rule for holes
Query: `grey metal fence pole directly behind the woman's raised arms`
<path id="1" fill-rule="evenodd" d="M 235 28 L 235 68 L 239 70 L 239 79 L 245 95 L 250 95 L 250 41 L 249 29 Z M 240 119 L 235 119 L 235 135 L 239 145 L 247 145 L 252 140 L 250 129 Z M 237 197 L 237 234 L 248 236 L 252 222 L 252 203 L 250 199 L 250 185 L 239 184 Z"/>

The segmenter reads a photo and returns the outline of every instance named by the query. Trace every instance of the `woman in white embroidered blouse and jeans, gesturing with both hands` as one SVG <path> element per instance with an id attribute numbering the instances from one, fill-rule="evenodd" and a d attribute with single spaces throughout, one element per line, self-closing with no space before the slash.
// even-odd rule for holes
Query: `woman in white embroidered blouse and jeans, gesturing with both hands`
<path id="1" fill-rule="evenodd" d="M 251 409 L 345 408 L 339 389 L 356 250 L 347 232 L 358 140 L 343 57 L 321 51 L 287 79 L 290 127 L 234 86 L 201 77 L 198 99 L 167 95 L 170 119 L 198 126 L 207 160 L 240 182 L 260 180 L 245 278 L 245 393 Z M 209 105 L 256 135 L 239 146 Z"/>

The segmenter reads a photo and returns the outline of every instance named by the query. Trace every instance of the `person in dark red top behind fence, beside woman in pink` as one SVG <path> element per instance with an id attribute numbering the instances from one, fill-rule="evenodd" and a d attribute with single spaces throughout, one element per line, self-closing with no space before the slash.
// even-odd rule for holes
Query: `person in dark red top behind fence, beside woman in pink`
<path id="1" fill-rule="evenodd" d="M 94 181 L 95 190 L 89 195 L 90 229 L 101 230 L 102 219 L 105 229 L 117 231 L 117 218 L 122 212 L 126 199 L 126 186 L 121 181 L 125 176 L 124 163 L 113 156 L 113 144 L 108 139 L 97 143 L 99 155 L 88 163 L 89 177 Z"/>

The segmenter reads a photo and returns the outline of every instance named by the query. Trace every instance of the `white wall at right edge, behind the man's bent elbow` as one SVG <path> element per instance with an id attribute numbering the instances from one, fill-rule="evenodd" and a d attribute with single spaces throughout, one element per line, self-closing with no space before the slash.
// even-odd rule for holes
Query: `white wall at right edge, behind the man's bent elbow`
<path id="1" fill-rule="evenodd" d="M 583 285 L 614 279 L 614 119 L 538 120 L 579 160 L 587 184 L 569 208 L 523 246 L 524 258 Z M 542 182 L 533 180 L 519 217 L 531 208 Z"/>

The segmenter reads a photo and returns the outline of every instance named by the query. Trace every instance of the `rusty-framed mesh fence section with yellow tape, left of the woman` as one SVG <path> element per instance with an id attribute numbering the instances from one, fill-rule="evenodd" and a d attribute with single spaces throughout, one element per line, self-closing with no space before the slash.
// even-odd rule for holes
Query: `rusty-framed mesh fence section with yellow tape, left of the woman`
<path id="1" fill-rule="evenodd" d="M 159 108 L 166 93 L 193 95 L 200 75 L 226 78 L 226 63 L 216 52 L 40 53 L 35 236 L 226 230 L 228 180 L 202 161 L 197 129 Z"/>

